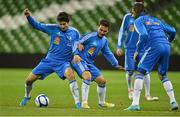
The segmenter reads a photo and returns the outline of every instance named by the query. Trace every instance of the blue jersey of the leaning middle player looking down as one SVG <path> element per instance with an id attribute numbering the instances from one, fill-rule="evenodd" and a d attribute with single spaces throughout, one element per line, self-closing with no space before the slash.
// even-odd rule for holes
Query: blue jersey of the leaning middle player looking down
<path id="1" fill-rule="evenodd" d="M 87 63 L 94 63 L 94 59 L 101 51 L 113 67 L 118 66 L 117 59 L 108 47 L 107 37 L 99 37 L 97 32 L 87 33 L 81 37 L 79 43 L 83 44 L 84 50 L 79 52 L 76 49 L 75 54 L 78 54 Z"/>

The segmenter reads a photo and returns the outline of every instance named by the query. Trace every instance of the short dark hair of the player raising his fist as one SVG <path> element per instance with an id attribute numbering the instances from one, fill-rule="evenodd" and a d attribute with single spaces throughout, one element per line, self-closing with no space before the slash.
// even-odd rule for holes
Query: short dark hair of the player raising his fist
<path id="1" fill-rule="evenodd" d="M 60 12 L 57 16 L 57 21 L 61 22 L 61 21 L 65 21 L 68 22 L 70 21 L 70 15 L 66 12 Z"/>

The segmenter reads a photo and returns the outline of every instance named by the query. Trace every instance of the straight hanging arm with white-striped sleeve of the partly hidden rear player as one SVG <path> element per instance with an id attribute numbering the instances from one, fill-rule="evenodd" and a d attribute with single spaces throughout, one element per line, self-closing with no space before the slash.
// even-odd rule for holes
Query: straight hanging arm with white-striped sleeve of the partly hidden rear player
<path id="1" fill-rule="evenodd" d="M 119 29 L 119 33 L 118 33 L 118 45 L 117 45 L 117 50 L 116 50 L 116 54 L 118 56 L 121 56 L 123 54 L 122 51 L 122 46 L 123 46 L 123 42 L 125 40 L 125 32 L 127 31 L 127 17 L 129 14 L 126 14 L 123 18 L 123 21 L 121 23 L 121 27 Z"/>

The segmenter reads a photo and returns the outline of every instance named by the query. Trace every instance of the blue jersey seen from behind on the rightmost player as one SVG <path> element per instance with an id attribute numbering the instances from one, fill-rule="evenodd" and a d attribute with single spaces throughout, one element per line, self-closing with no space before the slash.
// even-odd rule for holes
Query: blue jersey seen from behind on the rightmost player
<path id="1" fill-rule="evenodd" d="M 169 44 L 175 38 L 176 30 L 173 27 L 152 16 L 141 16 L 135 20 L 134 25 L 139 34 L 137 52 L 142 48 L 146 50 L 160 43 Z"/>

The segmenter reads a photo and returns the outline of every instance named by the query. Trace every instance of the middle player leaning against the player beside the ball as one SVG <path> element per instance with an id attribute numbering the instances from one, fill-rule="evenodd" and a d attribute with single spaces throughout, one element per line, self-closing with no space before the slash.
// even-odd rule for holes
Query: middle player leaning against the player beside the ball
<path id="1" fill-rule="evenodd" d="M 89 86 L 92 81 L 97 83 L 97 93 L 99 97 L 99 106 L 114 107 L 112 103 L 105 102 L 106 96 L 106 80 L 102 76 L 100 70 L 94 65 L 94 59 L 101 51 L 105 58 L 115 68 L 122 68 L 118 65 L 118 61 L 108 47 L 108 38 L 110 22 L 101 20 L 96 32 L 84 34 L 79 43 L 83 45 L 83 49 L 76 49 L 72 66 L 80 77 L 82 83 L 82 108 L 90 108 L 88 105 Z"/>

